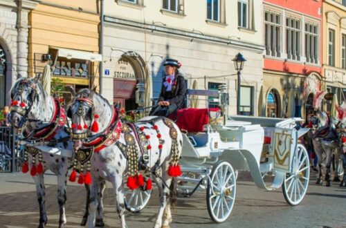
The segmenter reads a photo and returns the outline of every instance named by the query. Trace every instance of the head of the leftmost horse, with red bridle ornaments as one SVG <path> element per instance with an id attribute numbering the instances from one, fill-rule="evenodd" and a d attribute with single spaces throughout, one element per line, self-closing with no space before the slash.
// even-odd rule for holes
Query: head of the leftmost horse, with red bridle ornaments
<path id="1" fill-rule="evenodd" d="M 39 102 L 39 93 L 44 93 L 38 83 L 40 75 L 34 79 L 20 78 L 11 88 L 10 122 L 13 127 L 21 128 L 28 120 L 30 112 L 35 109 L 35 103 Z"/>

